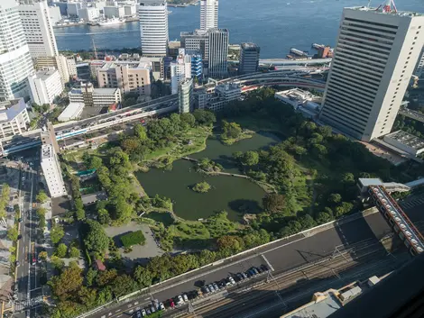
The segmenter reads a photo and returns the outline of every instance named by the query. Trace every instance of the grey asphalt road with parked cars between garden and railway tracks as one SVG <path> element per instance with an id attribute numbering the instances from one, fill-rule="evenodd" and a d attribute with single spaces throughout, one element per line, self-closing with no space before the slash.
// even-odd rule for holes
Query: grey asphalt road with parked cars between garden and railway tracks
<path id="1" fill-rule="evenodd" d="M 410 218 L 419 219 L 419 214 L 410 215 Z M 254 254 L 235 257 L 231 263 L 203 268 L 196 272 L 172 280 L 163 286 L 154 286 L 150 294 L 139 296 L 131 302 L 103 310 L 91 315 L 96 318 L 121 318 L 131 315 L 137 307 L 151 304 L 151 299 L 166 301 L 176 295 L 188 293 L 198 289 L 199 282 L 206 284 L 221 280 L 228 275 L 245 271 L 253 266 L 262 264 L 271 265 L 274 272 L 283 272 L 291 268 L 298 268 L 309 262 L 322 259 L 333 253 L 336 247 L 340 250 L 348 249 L 349 245 L 360 242 L 374 243 L 392 232 L 389 225 L 380 214 L 371 214 L 350 223 L 343 223 L 324 232 L 304 237 L 296 235 L 287 241 L 272 243 Z"/>

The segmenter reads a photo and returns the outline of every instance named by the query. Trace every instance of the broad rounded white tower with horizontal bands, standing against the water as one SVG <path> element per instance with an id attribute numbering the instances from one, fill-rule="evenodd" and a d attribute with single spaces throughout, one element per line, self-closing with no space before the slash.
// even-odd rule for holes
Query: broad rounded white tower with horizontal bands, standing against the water
<path id="1" fill-rule="evenodd" d="M 168 51 L 168 10 L 166 0 L 142 0 L 138 5 L 142 53 L 164 57 Z"/>

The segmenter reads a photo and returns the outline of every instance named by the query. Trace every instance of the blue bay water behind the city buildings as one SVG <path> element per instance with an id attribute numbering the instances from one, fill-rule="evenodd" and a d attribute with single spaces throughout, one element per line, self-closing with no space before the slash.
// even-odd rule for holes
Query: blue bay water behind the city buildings
<path id="1" fill-rule="evenodd" d="M 373 0 L 378 6 L 383 0 Z M 263 59 L 282 58 L 290 48 L 311 50 L 312 43 L 334 46 L 338 23 L 346 6 L 367 0 L 220 0 L 218 26 L 230 32 L 230 43 L 253 41 Z M 396 0 L 398 10 L 424 13 L 424 0 Z M 170 41 L 180 32 L 199 27 L 199 5 L 170 7 Z M 140 46 L 138 22 L 115 26 L 79 25 L 55 29 L 59 50 L 99 50 Z"/>

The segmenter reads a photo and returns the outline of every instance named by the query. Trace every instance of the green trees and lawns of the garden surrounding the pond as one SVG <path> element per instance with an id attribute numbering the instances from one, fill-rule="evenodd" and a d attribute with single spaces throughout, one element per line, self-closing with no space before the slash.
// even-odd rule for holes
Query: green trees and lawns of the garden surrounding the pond
<path id="1" fill-rule="evenodd" d="M 230 221 L 225 211 L 205 220 L 180 219 L 172 214 L 169 198 L 149 197 L 136 186 L 139 183 L 133 175 L 135 169 L 166 167 L 174 159 L 204 149 L 215 122 L 213 114 L 205 111 L 171 114 L 149 122 L 146 128 L 135 125 L 134 136 L 123 136 L 118 143 L 84 154 L 84 159 L 76 154 L 64 155 L 62 169 L 75 205 L 69 222 L 79 223 L 81 255 L 86 259 L 88 270 L 78 268 L 75 262 L 65 267 L 63 260 L 51 256 L 57 275 L 48 284 L 56 306 L 49 309 L 48 316 L 75 317 L 115 297 L 355 213 L 362 208 L 356 200 L 357 177 L 404 182 L 424 173 L 423 165 L 416 163 L 392 166 L 387 160 L 373 156 L 360 142 L 310 122 L 290 106 L 274 100 L 273 95 L 272 88 L 254 91 L 244 101 L 229 104 L 219 114 L 221 120 L 227 121 L 229 131 L 238 132 L 237 127 L 243 127 L 282 136 L 281 142 L 267 149 L 233 154 L 241 174 L 272 186 L 272 191 L 263 197 L 263 211 L 251 215 L 244 223 Z M 227 136 L 232 138 L 234 134 L 228 132 Z M 72 173 L 74 161 L 78 159 L 85 168 L 97 168 L 97 180 L 108 196 L 91 209 L 90 215 L 95 215 L 96 220 L 87 218 L 84 207 L 78 203 L 79 179 Z M 197 165 L 205 170 L 217 167 L 208 159 L 199 160 Z M 132 220 L 148 224 L 162 250 L 190 251 L 174 256 L 166 252 L 145 265 L 136 265 L 129 273 L 104 227 Z M 53 224 L 51 241 L 61 255 L 64 249 L 59 246 L 63 236 L 62 225 Z M 129 241 L 133 243 L 135 239 Z M 93 268 L 95 259 L 105 261 L 106 270 Z"/>

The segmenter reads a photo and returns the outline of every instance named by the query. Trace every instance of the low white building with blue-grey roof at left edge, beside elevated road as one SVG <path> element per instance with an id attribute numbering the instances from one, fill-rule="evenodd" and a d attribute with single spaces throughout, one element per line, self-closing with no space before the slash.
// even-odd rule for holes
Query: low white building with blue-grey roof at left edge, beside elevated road
<path id="1" fill-rule="evenodd" d="M 21 135 L 27 131 L 30 117 L 23 98 L 0 103 L 0 138 Z"/>

